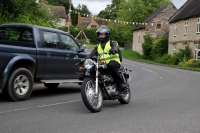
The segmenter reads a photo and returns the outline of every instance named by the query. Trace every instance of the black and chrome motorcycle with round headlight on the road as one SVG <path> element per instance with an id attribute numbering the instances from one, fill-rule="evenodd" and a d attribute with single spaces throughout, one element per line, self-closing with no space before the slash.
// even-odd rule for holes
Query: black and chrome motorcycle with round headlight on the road
<path id="1" fill-rule="evenodd" d="M 81 70 L 85 70 L 81 85 L 82 100 L 87 109 L 93 113 L 99 112 L 102 109 L 103 100 L 118 100 L 121 104 L 128 104 L 131 98 L 131 91 L 128 84 L 130 76 L 127 68 L 121 65 L 119 69 L 121 76 L 127 84 L 127 88 L 120 91 L 120 88 L 109 73 L 105 61 L 100 60 L 104 54 L 109 54 L 109 52 L 103 52 L 92 59 L 81 59 L 79 62 L 84 63 L 84 68 L 81 68 Z M 129 72 L 131 71 L 130 69 Z"/>

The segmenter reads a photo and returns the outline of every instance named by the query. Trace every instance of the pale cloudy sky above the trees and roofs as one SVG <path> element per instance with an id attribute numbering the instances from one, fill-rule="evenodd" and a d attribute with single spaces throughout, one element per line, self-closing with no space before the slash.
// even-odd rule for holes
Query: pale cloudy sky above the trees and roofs
<path id="1" fill-rule="evenodd" d="M 92 15 L 98 15 L 98 13 L 111 4 L 112 0 L 72 0 L 72 4 L 77 8 L 78 4 L 86 5 Z M 179 9 L 187 0 L 172 0 L 173 4 Z"/>

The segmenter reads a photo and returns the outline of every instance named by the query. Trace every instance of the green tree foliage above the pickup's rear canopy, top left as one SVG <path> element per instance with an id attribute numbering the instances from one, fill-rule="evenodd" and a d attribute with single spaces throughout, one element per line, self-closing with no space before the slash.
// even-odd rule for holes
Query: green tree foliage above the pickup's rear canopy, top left
<path id="1" fill-rule="evenodd" d="M 20 22 L 52 27 L 51 18 L 35 0 L 0 0 L 0 23 Z"/>

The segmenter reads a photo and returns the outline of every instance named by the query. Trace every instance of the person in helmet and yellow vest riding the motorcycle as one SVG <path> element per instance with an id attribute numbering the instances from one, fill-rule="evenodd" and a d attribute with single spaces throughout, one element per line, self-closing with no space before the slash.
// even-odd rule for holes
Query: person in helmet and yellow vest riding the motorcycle
<path id="1" fill-rule="evenodd" d="M 120 64 L 122 61 L 121 52 L 118 48 L 118 44 L 116 41 L 110 41 L 110 29 L 106 26 L 100 27 L 96 31 L 98 40 L 100 44 L 98 44 L 93 51 L 86 57 L 92 58 L 93 56 L 97 56 L 102 52 L 109 52 L 109 54 L 105 54 L 104 58 L 108 58 L 106 60 L 106 64 L 108 66 L 109 71 L 113 75 L 115 82 L 117 83 L 118 87 L 124 90 L 127 86 L 119 73 L 118 69 L 120 68 Z"/>

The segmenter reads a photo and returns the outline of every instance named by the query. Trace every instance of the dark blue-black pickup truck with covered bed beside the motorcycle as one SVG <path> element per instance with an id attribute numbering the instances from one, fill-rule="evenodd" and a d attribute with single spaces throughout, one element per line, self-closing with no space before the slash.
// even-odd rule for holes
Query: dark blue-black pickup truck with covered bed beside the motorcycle
<path id="1" fill-rule="evenodd" d="M 31 24 L 0 25 L 0 89 L 13 101 L 30 97 L 35 83 L 56 88 L 59 83 L 81 82 L 75 65 L 84 58 L 85 45 L 70 34 Z"/>

